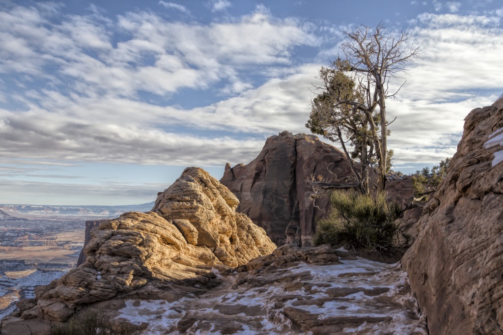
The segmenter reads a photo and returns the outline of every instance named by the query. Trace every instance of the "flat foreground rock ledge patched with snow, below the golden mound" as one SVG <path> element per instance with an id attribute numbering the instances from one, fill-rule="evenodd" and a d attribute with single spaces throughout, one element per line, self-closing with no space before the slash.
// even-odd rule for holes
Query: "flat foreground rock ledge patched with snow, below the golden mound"
<path id="1" fill-rule="evenodd" d="M 340 333 L 427 334 L 425 318 L 418 312 L 407 273 L 399 263 L 341 262 L 325 266 L 301 263 L 274 274 L 259 273 L 260 280 L 268 282 L 267 276 L 274 275 L 274 281 L 257 287 L 236 285 L 238 274 L 220 276 L 216 272 L 223 284 L 206 294 L 174 302 L 127 300 L 118 318 L 148 324 L 145 335 L 183 333 L 177 325 L 189 319 L 189 334 L 218 333 L 224 326 L 241 334 L 310 334 L 306 324 L 325 323 L 340 327 Z M 292 311 L 298 316 L 292 316 Z M 352 317 L 369 322 L 337 324 Z"/>

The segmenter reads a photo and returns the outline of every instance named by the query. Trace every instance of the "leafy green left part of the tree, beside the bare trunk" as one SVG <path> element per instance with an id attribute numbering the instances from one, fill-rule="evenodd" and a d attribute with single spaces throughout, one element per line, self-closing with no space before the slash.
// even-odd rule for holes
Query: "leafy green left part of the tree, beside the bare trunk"
<path id="1" fill-rule="evenodd" d="M 349 62 L 341 58 L 334 60 L 331 67 L 321 67 L 318 78 L 323 82 L 323 89 L 311 101 L 311 113 L 305 126 L 313 134 L 341 144 L 351 163 L 358 163 L 353 172 L 357 175 L 360 192 L 369 194 L 369 169 L 379 164 L 372 126 L 381 125 L 381 115 L 375 111 L 375 106 L 371 110 L 366 107 L 367 93 L 356 77 L 347 74 L 350 70 Z M 381 136 L 376 140 L 381 141 Z M 391 157 L 387 162 L 391 163 Z"/>

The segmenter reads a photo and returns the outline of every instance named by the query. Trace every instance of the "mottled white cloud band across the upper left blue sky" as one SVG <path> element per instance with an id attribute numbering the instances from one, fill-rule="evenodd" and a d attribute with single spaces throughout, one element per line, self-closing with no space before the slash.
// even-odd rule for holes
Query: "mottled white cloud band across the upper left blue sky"
<path id="1" fill-rule="evenodd" d="M 89 16 L 60 14 L 59 24 L 44 15 L 24 7 L 0 13 L 0 73 L 45 78 L 88 97 L 136 99 L 146 91 L 168 98 L 183 88 L 206 89 L 220 81 L 222 93 L 237 94 L 249 88 L 241 75 L 251 66 L 290 64 L 295 46 L 318 43 L 312 27 L 276 19 L 264 6 L 209 25 L 170 22 L 146 12 L 128 13 L 117 22 L 98 10 Z M 130 37 L 112 46 L 115 31 Z"/>

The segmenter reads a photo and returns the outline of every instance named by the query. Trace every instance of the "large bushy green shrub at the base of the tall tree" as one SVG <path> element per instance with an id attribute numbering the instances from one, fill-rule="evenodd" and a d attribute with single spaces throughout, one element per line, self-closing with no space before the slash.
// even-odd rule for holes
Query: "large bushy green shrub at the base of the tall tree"
<path id="1" fill-rule="evenodd" d="M 382 248 L 409 243 L 398 203 L 388 203 L 386 194 L 364 195 L 354 190 L 334 191 L 330 213 L 318 221 L 314 244 L 330 243 L 347 248 Z"/>

